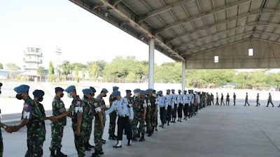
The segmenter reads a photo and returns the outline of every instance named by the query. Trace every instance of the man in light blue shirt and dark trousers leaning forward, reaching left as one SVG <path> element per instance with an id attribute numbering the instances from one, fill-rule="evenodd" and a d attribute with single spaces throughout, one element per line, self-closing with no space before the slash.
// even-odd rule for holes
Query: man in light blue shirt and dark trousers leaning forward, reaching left
<path id="1" fill-rule="evenodd" d="M 127 146 L 130 146 L 132 143 L 132 120 L 134 113 L 130 99 L 121 98 L 120 91 L 113 91 L 113 105 L 105 113 L 109 114 L 114 110 L 118 111 L 118 143 L 113 147 L 122 147 L 123 129 L 127 133 Z"/>

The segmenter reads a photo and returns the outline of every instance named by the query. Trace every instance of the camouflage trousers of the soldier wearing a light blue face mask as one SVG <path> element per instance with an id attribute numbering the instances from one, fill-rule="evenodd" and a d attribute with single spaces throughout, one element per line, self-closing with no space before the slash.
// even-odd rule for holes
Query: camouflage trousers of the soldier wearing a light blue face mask
<path id="1" fill-rule="evenodd" d="M 74 133 L 74 142 L 75 142 L 75 147 L 76 147 L 76 150 L 78 152 L 78 157 L 83 157 L 85 156 L 85 147 L 84 147 L 84 140 L 83 140 L 83 137 L 84 137 L 84 128 L 83 127 L 80 127 L 80 135 L 76 135 L 76 129 L 77 127 L 76 126 L 72 126 L 73 128 L 73 133 Z"/>

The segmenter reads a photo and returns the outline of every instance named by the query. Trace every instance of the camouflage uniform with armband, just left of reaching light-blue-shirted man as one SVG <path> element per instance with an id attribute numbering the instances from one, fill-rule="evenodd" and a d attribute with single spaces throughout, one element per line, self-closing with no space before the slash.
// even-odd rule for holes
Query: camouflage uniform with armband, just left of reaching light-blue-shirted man
<path id="1" fill-rule="evenodd" d="M 103 130 L 101 129 L 101 121 L 99 120 L 98 113 L 101 112 L 101 106 L 97 99 L 93 98 L 90 101 L 90 110 L 92 112 L 92 115 L 95 117 L 94 120 L 94 144 L 95 144 L 95 150 L 101 151 L 102 150 L 102 135 Z M 102 117 L 104 117 L 104 114 L 102 112 Z M 103 119 L 103 126 L 105 126 L 105 121 Z"/>

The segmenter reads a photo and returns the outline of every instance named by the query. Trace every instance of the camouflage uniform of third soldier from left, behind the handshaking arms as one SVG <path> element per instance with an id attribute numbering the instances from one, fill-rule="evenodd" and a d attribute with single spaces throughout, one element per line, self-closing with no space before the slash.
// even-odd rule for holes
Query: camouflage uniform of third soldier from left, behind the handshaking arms
<path id="1" fill-rule="evenodd" d="M 53 98 L 52 100 L 52 115 L 58 116 L 65 110 L 66 109 L 63 101 L 58 96 L 55 96 L 55 98 Z M 63 128 L 64 126 L 66 126 L 66 117 L 57 119 L 57 121 L 52 121 L 52 124 L 50 124 L 50 126 L 52 127 L 52 140 L 50 142 L 50 151 L 61 149 Z"/>

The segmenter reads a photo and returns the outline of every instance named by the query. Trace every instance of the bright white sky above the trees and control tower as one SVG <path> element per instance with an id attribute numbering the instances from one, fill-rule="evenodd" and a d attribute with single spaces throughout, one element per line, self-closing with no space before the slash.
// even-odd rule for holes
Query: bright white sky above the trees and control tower
<path id="1" fill-rule="evenodd" d="M 0 63 L 22 68 L 26 47 L 41 47 L 43 66 L 56 62 L 55 48 L 62 60 L 86 63 L 117 55 L 148 60 L 148 45 L 113 27 L 67 0 L 0 0 Z M 155 63 L 171 62 L 155 51 Z"/>

